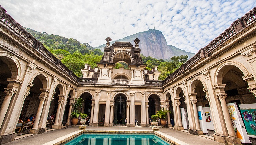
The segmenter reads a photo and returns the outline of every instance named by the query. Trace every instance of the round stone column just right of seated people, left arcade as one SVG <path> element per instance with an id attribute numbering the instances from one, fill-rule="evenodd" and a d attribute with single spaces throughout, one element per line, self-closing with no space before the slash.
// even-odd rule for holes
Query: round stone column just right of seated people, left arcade
<path id="1" fill-rule="evenodd" d="M 48 93 L 47 93 L 47 96 L 48 96 Z M 30 130 L 30 133 L 32 133 L 32 134 L 38 134 L 39 133 L 38 123 L 39 123 L 39 120 L 41 118 L 41 113 L 42 113 L 44 101 L 47 98 L 47 96 L 44 96 L 44 95 L 39 96 L 40 103 L 39 103 L 39 106 L 38 106 L 38 109 L 37 109 L 36 119 L 34 121 L 33 128 Z"/>

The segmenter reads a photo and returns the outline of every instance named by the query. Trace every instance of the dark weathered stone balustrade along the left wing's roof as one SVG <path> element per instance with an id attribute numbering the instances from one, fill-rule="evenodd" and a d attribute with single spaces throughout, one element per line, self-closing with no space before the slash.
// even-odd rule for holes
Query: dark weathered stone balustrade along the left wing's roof
<path id="1" fill-rule="evenodd" d="M 55 68 L 59 68 L 63 73 L 68 74 L 74 81 L 78 81 L 78 77 L 70 71 L 59 59 L 50 53 L 40 41 L 37 41 L 30 33 L 26 31 L 19 23 L 17 23 L 9 14 L 0 6 L 0 25 L 6 28 L 9 33 L 16 35 L 23 40 L 25 44 L 35 49 L 42 59 L 50 62 Z"/>

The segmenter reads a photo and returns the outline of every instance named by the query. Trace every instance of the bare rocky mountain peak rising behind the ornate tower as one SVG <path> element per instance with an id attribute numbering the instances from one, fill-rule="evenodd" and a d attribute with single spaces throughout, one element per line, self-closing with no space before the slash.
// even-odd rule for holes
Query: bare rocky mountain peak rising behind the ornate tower
<path id="1" fill-rule="evenodd" d="M 156 59 L 169 59 L 172 56 L 188 55 L 188 57 L 191 58 L 195 55 L 194 53 L 186 52 L 175 46 L 168 45 L 163 33 L 155 29 L 139 32 L 116 41 L 130 42 L 135 45 L 133 42 L 135 38 L 140 40 L 139 48 L 144 56 L 151 56 Z M 115 41 L 111 41 L 110 43 L 113 44 L 114 42 Z M 106 45 L 103 44 L 97 48 L 103 51 L 105 46 Z"/>

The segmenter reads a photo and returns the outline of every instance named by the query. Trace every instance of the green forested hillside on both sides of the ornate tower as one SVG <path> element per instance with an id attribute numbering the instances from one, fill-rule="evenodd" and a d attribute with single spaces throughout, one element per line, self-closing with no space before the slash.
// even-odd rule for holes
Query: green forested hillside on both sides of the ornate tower
<path id="1" fill-rule="evenodd" d="M 59 35 L 47 34 L 46 32 L 34 31 L 27 28 L 27 31 L 32 34 L 37 40 L 42 42 L 45 48 L 47 48 L 55 57 L 61 60 L 75 75 L 82 77 L 81 69 L 84 68 L 84 64 L 88 63 L 91 68 L 97 67 L 97 62 L 100 62 L 103 52 L 100 49 L 96 49 L 87 43 L 80 43 L 73 38 L 66 38 Z M 147 64 L 147 68 L 151 71 L 154 66 L 158 66 L 158 71 L 161 72 L 159 80 L 164 80 L 168 75 L 173 73 L 188 59 L 188 56 L 173 56 L 170 59 L 156 59 L 150 56 L 146 57 L 141 54 L 142 61 Z M 116 68 L 125 65 L 119 63 Z M 128 68 L 127 66 L 124 66 Z"/>

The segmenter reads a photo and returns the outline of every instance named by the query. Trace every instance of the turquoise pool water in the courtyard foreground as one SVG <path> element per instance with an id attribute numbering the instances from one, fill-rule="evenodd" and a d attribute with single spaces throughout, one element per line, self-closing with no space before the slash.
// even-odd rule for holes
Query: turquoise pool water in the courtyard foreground
<path id="1" fill-rule="evenodd" d="M 63 145 L 172 145 L 154 134 L 81 134 Z"/>

